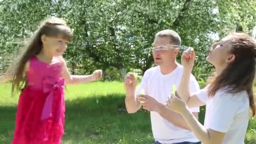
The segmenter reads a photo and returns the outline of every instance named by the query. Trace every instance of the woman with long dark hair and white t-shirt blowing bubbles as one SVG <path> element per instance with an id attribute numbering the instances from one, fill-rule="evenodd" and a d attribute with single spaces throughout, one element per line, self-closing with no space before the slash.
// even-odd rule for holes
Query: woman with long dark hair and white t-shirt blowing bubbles
<path id="1" fill-rule="evenodd" d="M 190 95 L 189 77 L 195 53 L 181 56 L 184 72 L 178 93 L 167 107 L 179 112 L 203 144 L 244 144 L 249 111 L 255 115 L 253 79 L 255 77 L 256 42 L 249 35 L 234 33 L 212 45 L 207 61 L 216 75 L 203 90 Z M 185 101 L 185 102 L 184 102 Z M 201 125 L 188 107 L 206 104 L 205 123 Z"/>

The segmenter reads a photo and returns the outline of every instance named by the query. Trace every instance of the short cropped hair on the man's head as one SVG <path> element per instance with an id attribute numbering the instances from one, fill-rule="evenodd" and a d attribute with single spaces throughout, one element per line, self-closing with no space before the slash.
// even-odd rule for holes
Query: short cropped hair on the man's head
<path id="1" fill-rule="evenodd" d="M 173 45 L 181 45 L 181 37 L 179 34 L 171 29 L 165 29 L 157 32 L 155 37 L 169 37 Z"/>

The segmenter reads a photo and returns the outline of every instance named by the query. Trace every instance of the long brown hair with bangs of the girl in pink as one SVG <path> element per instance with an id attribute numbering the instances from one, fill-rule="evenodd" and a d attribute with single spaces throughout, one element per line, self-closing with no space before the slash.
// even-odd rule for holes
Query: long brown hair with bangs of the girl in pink
<path id="1" fill-rule="evenodd" d="M 59 18 L 52 17 L 42 21 L 40 27 L 35 34 L 30 38 L 27 46 L 22 49 L 18 59 L 16 59 L 11 67 L 8 68 L 7 73 L 12 76 L 12 93 L 13 91 L 20 91 L 26 83 L 26 73 L 24 73 L 25 65 L 32 56 L 40 53 L 43 48 L 41 36 L 48 37 L 63 37 L 70 41 L 72 39 L 72 30 L 67 26 L 67 23 Z"/>

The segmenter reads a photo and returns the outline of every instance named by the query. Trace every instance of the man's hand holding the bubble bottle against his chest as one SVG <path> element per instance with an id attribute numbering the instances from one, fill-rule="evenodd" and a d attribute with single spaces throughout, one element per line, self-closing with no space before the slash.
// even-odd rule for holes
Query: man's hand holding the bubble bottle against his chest
<path id="1" fill-rule="evenodd" d="M 150 112 L 159 112 L 161 104 L 153 97 L 148 95 L 139 95 L 137 99 L 141 102 L 141 106 L 143 109 L 146 109 Z"/>

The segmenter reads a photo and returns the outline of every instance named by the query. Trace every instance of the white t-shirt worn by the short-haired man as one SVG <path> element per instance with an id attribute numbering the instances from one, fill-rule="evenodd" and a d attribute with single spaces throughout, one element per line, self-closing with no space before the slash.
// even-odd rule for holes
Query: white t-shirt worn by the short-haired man
<path id="1" fill-rule="evenodd" d="M 159 66 L 152 67 L 144 73 L 141 84 L 136 89 L 135 94 L 139 95 L 141 90 L 144 90 L 146 95 L 152 96 L 158 102 L 165 105 L 168 96 L 172 93 L 172 85 L 175 84 L 176 88 L 179 87 L 182 73 L 183 67 L 180 64 L 168 75 L 163 75 Z M 195 93 L 197 91 L 200 91 L 200 87 L 192 75 L 190 79 L 190 92 Z M 190 110 L 191 112 L 199 112 L 199 107 Z M 150 112 L 150 117 L 153 136 L 161 144 L 199 141 L 191 131 L 168 122 L 168 120 L 161 117 L 157 112 Z"/>

